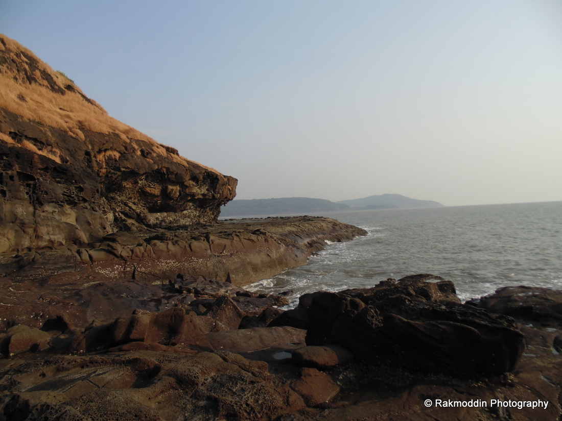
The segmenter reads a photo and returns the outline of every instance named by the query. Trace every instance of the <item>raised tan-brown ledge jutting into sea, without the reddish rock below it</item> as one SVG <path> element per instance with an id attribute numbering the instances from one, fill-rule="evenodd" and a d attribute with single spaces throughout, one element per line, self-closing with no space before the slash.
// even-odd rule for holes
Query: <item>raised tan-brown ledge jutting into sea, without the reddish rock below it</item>
<path id="1" fill-rule="evenodd" d="M 15 282 L 67 278 L 77 284 L 114 284 L 167 283 L 184 273 L 247 285 L 305 264 L 325 247 L 325 240 L 348 241 L 359 235 L 365 231 L 306 216 L 225 221 L 189 230 L 116 232 L 81 247 L 0 254 L 0 274 Z"/>

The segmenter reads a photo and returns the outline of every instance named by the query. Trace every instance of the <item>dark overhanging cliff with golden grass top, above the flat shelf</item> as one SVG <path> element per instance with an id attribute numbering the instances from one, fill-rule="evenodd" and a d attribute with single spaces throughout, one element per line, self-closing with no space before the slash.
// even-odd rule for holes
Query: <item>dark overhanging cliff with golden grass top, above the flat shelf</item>
<path id="1" fill-rule="evenodd" d="M 0 35 L 0 253 L 216 221 L 237 180 L 107 115 Z"/>

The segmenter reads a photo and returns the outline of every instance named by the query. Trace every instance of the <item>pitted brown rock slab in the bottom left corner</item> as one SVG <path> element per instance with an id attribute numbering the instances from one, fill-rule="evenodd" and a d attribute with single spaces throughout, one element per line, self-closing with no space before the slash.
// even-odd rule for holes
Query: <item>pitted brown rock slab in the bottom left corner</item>
<path id="1" fill-rule="evenodd" d="M 305 408 L 268 364 L 226 351 L 57 356 L 4 371 L 10 383 L 11 420 L 262 420 Z"/>

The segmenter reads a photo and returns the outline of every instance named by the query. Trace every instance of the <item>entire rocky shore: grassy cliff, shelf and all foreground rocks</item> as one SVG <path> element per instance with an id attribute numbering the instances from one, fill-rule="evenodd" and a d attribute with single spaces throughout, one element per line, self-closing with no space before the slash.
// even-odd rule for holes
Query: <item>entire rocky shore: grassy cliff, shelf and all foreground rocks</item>
<path id="1" fill-rule="evenodd" d="M 417 274 L 284 310 L 243 286 L 366 232 L 217 221 L 236 179 L 3 35 L 0 91 L 0 421 L 562 419 L 561 291 Z"/>

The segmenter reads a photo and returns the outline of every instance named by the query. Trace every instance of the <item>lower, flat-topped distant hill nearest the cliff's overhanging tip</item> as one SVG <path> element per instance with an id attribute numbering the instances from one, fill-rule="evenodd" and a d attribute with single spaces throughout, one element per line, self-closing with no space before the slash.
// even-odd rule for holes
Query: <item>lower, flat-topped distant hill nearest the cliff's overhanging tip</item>
<path id="1" fill-rule="evenodd" d="M 339 212 L 350 211 L 345 204 L 324 199 L 279 198 L 233 200 L 224 205 L 220 216 L 259 216 L 283 215 L 291 213 Z"/>

